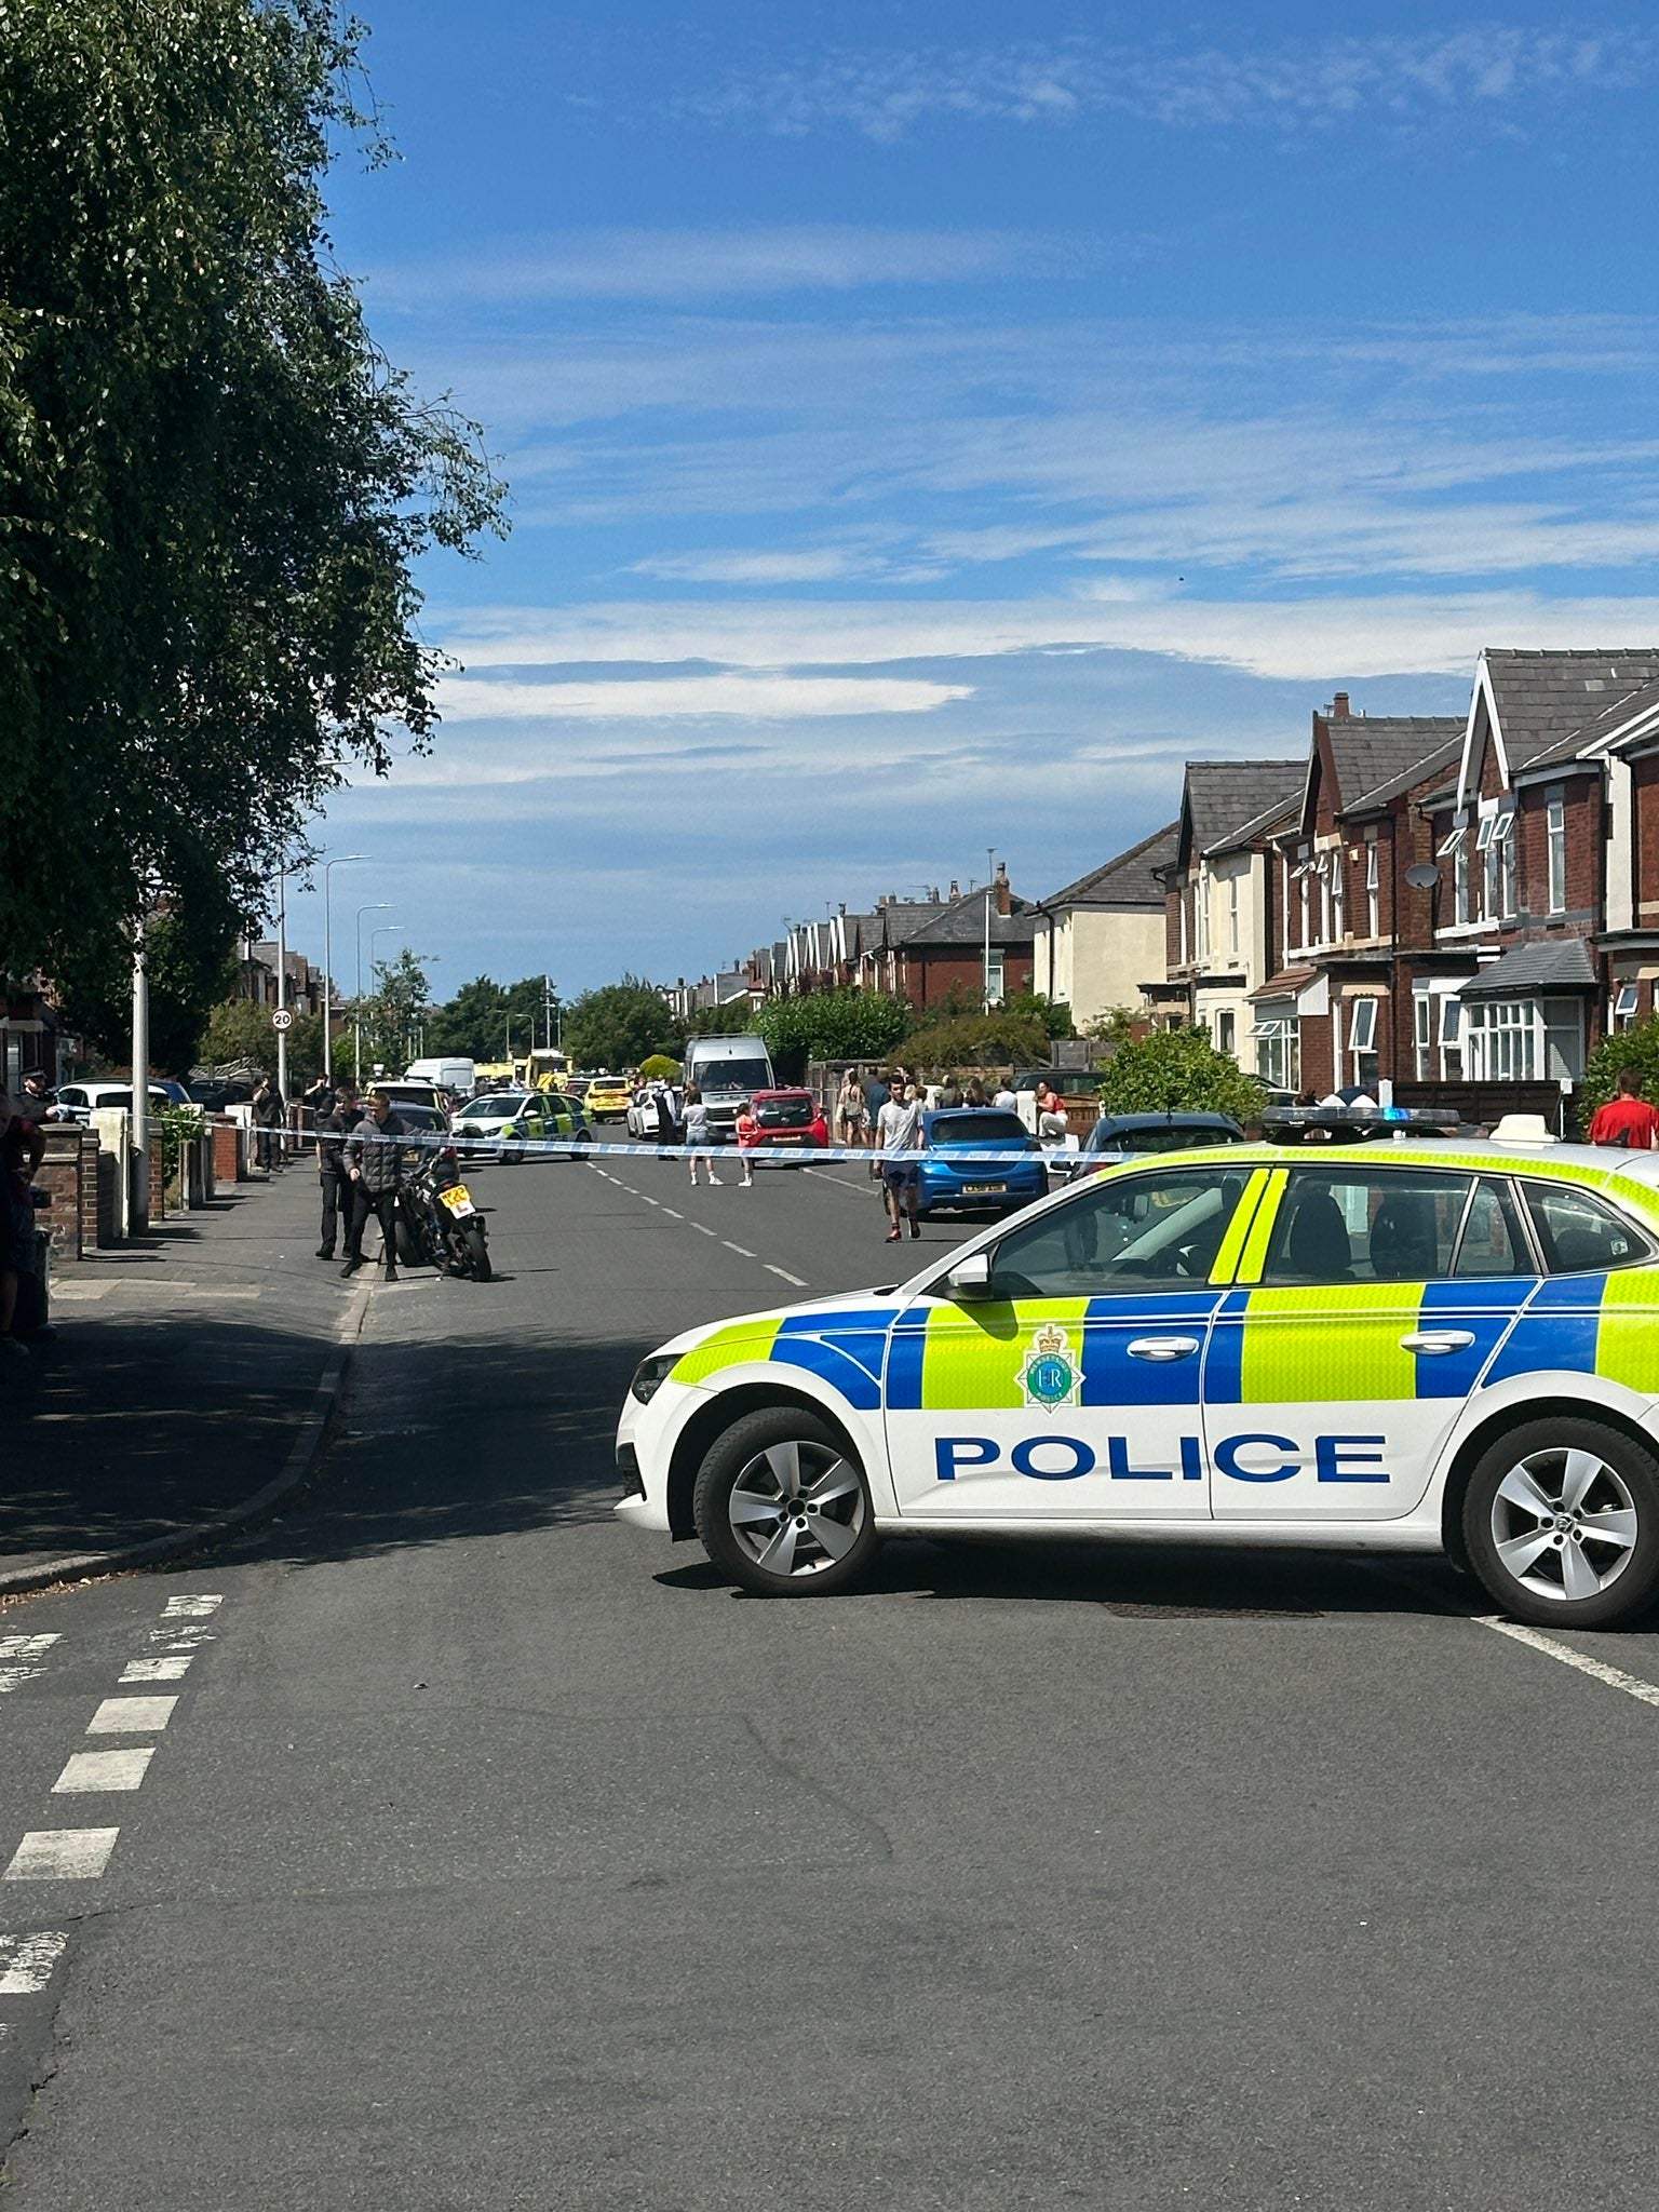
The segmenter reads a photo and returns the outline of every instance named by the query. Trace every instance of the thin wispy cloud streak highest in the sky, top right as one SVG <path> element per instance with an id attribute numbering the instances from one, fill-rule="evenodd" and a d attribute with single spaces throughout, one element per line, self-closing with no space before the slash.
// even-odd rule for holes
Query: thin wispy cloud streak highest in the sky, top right
<path id="1" fill-rule="evenodd" d="M 1181 51 L 1077 38 L 980 49 L 832 51 L 810 66 L 732 75 L 677 102 L 681 115 L 783 135 L 852 128 L 898 139 L 922 122 L 1075 124 L 1130 115 L 1170 128 L 1349 128 L 1360 119 L 1469 117 L 1546 97 L 1606 95 L 1648 82 L 1659 42 L 1646 29 L 1460 31 Z"/>

